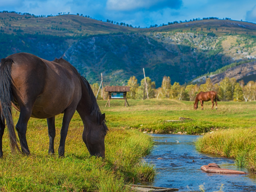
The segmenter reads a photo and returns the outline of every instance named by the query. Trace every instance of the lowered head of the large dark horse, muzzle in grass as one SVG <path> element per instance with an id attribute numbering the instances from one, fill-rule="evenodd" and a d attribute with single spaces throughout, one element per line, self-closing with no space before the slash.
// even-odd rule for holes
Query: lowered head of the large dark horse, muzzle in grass
<path id="1" fill-rule="evenodd" d="M 105 114 L 98 119 L 92 118 L 86 122 L 82 135 L 83 141 L 91 155 L 105 156 L 105 136 L 108 128 L 105 124 Z M 94 119 L 94 120 L 92 120 Z"/>

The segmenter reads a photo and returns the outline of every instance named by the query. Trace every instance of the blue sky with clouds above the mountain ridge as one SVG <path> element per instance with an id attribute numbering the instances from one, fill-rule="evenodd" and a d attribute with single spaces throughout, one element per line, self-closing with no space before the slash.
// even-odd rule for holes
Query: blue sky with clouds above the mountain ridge
<path id="1" fill-rule="evenodd" d="M 193 18 L 232 18 L 256 23 L 256 0 L 0 0 L 0 10 L 89 15 L 146 27 Z"/>

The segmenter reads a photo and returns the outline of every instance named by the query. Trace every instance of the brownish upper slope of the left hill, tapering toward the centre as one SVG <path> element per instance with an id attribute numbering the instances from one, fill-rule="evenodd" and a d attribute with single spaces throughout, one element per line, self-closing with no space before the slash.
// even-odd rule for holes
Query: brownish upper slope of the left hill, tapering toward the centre
<path id="1" fill-rule="evenodd" d="M 2 27 L 2 28 L 1 28 Z M 0 13 L 0 28 L 7 34 L 28 33 L 56 36 L 132 32 L 136 28 L 119 26 L 77 15 L 33 17 L 15 13 Z M 19 31 L 18 31 L 19 30 Z"/>

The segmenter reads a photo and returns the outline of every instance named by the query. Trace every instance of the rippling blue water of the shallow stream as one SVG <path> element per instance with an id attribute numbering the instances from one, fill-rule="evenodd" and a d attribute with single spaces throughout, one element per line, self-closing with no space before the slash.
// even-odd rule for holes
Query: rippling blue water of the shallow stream
<path id="1" fill-rule="evenodd" d="M 193 191 L 193 189 L 199 191 L 198 186 L 204 184 L 207 192 L 219 191 L 221 184 L 224 184 L 222 188 L 224 192 L 256 192 L 254 174 L 203 172 L 200 167 L 209 163 L 217 163 L 221 168 L 245 172 L 248 170 L 235 166 L 233 159 L 197 152 L 193 141 L 198 136 L 178 134 L 152 134 L 152 136 L 156 146 L 151 154 L 145 157 L 145 160 L 153 163 L 159 174 L 153 182 L 142 184 L 178 188 L 179 191 Z"/>

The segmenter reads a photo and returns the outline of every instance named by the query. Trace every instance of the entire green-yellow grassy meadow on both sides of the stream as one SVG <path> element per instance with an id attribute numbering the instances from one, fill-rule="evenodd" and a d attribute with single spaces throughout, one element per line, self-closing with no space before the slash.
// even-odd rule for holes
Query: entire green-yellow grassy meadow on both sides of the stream
<path id="1" fill-rule="evenodd" d="M 98 101 L 110 129 L 105 140 L 105 159 L 90 156 L 82 141 L 83 126 L 77 113 L 70 123 L 65 158 L 48 155 L 46 120 L 29 120 L 27 140 L 31 155 L 28 157 L 11 154 L 5 132 L 0 191 L 130 191 L 126 184 L 153 180 L 156 176 L 154 165 L 143 161 L 143 156 L 154 146 L 150 134 L 143 131 L 187 134 L 214 131 L 196 142 L 198 150 L 236 158 L 240 166 L 255 170 L 256 102 L 218 102 L 218 110 L 211 110 L 210 102 L 204 104 L 204 110 L 194 110 L 193 102 L 188 101 L 128 102 L 130 107 L 124 107 L 124 100 L 111 100 L 111 107 L 105 108 L 106 101 Z M 14 111 L 15 122 L 18 115 Z M 166 121 L 179 117 L 192 120 Z M 56 116 L 55 151 L 61 124 L 62 114 Z"/>

